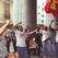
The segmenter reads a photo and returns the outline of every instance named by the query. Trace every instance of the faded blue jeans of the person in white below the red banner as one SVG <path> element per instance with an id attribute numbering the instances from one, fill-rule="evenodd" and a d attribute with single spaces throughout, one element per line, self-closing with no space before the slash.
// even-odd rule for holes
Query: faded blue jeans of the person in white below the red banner
<path id="1" fill-rule="evenodd" d="M 56 50 L 55 45 L 51 44 L 49 40 L 43 44 L 43 53 L 45 56 L 53 56 L 53 58 L 56 58 Z"/>

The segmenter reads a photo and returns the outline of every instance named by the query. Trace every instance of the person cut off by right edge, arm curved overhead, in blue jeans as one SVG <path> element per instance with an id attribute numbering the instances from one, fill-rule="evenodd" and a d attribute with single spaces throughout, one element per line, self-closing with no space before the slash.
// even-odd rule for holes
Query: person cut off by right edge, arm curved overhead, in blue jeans
<path id="1" fill-rule="evenodd" d="M 54 27 L 53 24 L 55 23 Z M 55 16 L 55 20 L 50 22 L 50 33 L 51 33 L 51 43 L 54 44 L 54 55 L 53 58 L 58 58 L 58 14 Z"/>

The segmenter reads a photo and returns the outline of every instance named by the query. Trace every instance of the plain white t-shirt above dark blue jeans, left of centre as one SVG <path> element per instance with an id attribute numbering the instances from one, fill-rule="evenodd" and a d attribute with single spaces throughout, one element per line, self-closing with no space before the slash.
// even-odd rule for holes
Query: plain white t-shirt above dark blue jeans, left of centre
<path id="1" fill-rule="evenodd" d="M 15 36 L 16 36 L 16 46 L 18 47 L 26 47 L 26 34 L 22 34 L 20 31 L 15 31 Z"/>

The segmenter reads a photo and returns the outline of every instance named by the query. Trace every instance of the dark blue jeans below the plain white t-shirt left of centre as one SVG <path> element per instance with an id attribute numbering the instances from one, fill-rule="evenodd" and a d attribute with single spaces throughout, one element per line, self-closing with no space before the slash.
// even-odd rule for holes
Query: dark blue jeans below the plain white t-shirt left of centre
<path id="1" fill-rule="evenodd" d="M 19 58 L 28 58 L 28 51 L 26 47 L 18 47 Z"/>

